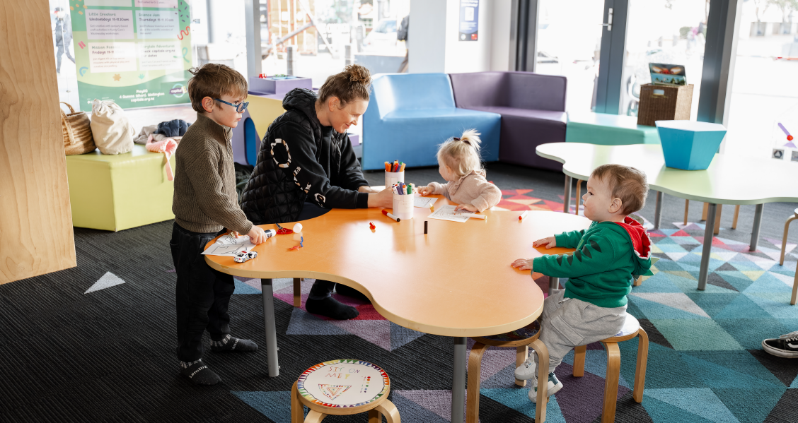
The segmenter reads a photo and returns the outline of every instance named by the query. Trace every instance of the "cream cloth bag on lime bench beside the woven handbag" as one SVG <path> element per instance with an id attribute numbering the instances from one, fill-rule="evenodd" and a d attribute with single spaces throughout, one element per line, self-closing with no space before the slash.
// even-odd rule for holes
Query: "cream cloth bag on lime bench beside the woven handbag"
<path id="1" fill-rule="evenodd" d="M 113 101 L 94 100 L 92 104 L 94 143 L 104 155 L 121 155 L 133 149 L 133 130 L 128 116 Z"/>

